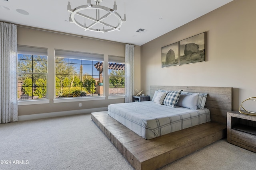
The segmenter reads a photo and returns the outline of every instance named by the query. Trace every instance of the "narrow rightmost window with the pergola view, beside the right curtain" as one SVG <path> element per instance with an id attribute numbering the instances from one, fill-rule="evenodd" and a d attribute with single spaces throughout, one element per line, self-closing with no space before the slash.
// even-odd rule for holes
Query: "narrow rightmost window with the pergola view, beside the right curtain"
<path id="1" fill-rule="evenodd" d="M 109 96 L 125 94 L 125 58 L 108 57 Z"/>

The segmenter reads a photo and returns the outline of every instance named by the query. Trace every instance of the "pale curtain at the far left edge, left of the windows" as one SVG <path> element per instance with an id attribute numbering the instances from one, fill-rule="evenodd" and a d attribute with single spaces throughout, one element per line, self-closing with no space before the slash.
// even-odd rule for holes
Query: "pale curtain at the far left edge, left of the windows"
<path id="1" fill-rule="evenodd" d="M 0 123 L 18 121 L 17 26 L 0 22 Z"/>

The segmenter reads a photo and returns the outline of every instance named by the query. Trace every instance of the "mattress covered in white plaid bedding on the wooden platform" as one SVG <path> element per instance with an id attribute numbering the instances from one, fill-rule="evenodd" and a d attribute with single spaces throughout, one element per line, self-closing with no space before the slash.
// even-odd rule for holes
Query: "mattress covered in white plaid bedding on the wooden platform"
<path id="1" fill-rule="evenodd" d="M 210 111 L 158 105 L 152 101 L 110 104 L 108 115 L 144 139 L 153 139 L 210 121 Z"/>

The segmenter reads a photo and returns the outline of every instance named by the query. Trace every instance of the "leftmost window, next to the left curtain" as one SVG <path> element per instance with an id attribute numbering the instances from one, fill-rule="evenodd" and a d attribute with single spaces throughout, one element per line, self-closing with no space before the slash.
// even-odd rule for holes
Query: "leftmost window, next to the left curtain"
<path id="1" fill-rule="evenodd" d="M 18 45 L 18 100 L 47 98 L 48 50 Z"/>

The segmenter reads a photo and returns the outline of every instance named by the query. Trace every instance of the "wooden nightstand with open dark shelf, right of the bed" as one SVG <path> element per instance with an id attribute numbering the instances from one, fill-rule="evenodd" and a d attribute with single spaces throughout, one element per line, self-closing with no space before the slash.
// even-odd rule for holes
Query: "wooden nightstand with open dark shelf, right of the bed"
<path id="1" fill-rule="evenodd" d="M 227 113 L 229 143 L 256 152 L 256 116 L 232 111 Z"/>

